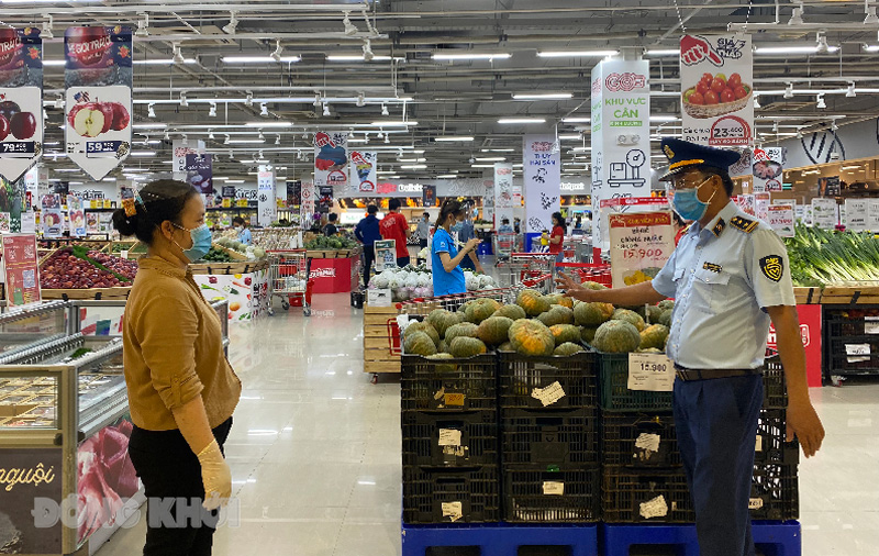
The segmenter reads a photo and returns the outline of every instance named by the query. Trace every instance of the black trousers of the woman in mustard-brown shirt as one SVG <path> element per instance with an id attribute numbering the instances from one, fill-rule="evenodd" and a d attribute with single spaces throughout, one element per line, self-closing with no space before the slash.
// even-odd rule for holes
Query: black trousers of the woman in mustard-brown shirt
<path id="1" fill-rule="evenodd" d="M 232 418 L 213 430 L 221 451 L 230 429 Z M 163 523 L 162 519 L 176 522 L 179 504 L 168 502 L 170 499 L 183 499 L 190 509 L 200 508 L 204 500 L 201 464 L 180 431 L 145 431 L 135 426 L 131 433 L 129 455 L 144 483 L 147 499 L 144 556 L 210 556 L 219 522 L 218 511 L 202 509 L 202 519 L 196 523 L 189 521 L 185 526 L 174 526 L 167 521 Z"/>

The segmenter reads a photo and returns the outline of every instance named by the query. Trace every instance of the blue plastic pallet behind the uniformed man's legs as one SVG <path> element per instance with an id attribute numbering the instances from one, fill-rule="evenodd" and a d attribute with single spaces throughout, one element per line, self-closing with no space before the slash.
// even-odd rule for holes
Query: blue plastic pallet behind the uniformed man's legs
<path id="1" fill-rule="evenodd" d="M 766 556 L 800 556 L 800 523 L 753 523 L 754 542 Z M 696 525 L 602 525 L 603 556 L 628 556 L 633 545 L 675 545 L 679 556 L 699 556 Z"/>

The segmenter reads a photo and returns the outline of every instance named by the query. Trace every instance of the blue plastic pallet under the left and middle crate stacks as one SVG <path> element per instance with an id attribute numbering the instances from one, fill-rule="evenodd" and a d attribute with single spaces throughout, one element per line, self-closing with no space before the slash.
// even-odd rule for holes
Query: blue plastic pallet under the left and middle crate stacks
<path id="1" fill-rule="evenodd" d="M 403 556 L 435 547 L 478 547 L 479 556 L 511 556 L 522 546 L 564 546 L 568 556 L 598 556 L 597 525 L 403 525 Z"/>

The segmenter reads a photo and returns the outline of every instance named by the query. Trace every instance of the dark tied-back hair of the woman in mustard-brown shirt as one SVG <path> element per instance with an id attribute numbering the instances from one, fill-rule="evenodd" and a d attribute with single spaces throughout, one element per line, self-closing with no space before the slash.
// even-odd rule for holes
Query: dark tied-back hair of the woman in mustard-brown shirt
<path id="1" fill-rule="evenodd" d="M 137 237 L 146 245 L 153 244 L 153 234 L 163 222 L 180 224 L 183 207 L 198 190 L 174 179 L 151 181 L 134 199 L 134 214 L 125 214 L 124 207 L 113 212 L 113 227 L 123 236 Z"/>

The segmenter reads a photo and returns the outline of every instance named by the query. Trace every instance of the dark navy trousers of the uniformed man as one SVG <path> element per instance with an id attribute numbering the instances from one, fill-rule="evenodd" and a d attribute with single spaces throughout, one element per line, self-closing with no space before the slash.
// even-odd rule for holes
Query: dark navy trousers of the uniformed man
<path id="1" fill-rule="evenodd" d="M 763 377 L 675 381 L 675 429 L 701 556 L 754 556 L 748 501 Z"/>

